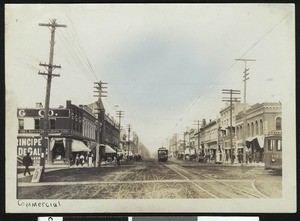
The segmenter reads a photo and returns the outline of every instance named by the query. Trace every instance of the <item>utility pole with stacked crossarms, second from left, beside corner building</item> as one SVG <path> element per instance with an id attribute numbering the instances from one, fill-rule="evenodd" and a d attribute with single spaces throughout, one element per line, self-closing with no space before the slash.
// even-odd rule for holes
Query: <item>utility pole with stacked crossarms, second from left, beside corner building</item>
<path id="1" fill-rule="evenodd" d="M 97 133 L 97 142 L 98 145 L 96 146 L 96 163 L 95 163 L 95 167 L 99 167 L 100 166 L 100 158 L 99 158 L 99 154 L 100 154 L 100 150 L 99 148 L 101 147 L 101 145 L 104 145 L 104 134 L 105 134 L 105 108 L 102 102 L 102 97 L 107 97 L 107 87 L 105 87 L 105 85 L 107 83 L 104 83 L 102 81 L 99 82 L 94 82 L 94 84 L 96 86 L 94 86 L 94 88 L 96 89 L 94 91 L 94 93 L 96 93 L 94 95 L 94 97 L 97 97 L 98 100 L 96 102 L 97 104 L 97 108 L 96 108 L 96 114 L 98 115 L 98 133 Z"/>

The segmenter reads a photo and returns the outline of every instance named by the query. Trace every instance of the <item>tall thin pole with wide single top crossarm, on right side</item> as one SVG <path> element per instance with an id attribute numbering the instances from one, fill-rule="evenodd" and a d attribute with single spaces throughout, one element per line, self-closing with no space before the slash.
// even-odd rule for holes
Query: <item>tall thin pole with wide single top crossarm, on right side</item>
<path id="1" fill-rule="evenodd" d="M 244 82 L 244 120 L 243 120 L 243 162 L 247 162 L 247 159 L 246 159 L 246 152 L 247 152 L 247 146 L 246 146 L 246 124 L 247 124 L 247 115 L 246 115 L 246 87 L 247 87 L 247 80 L 249 80 L 250 77 L 248 77 L 249 73 L 249 68 L 247 68 L 247 61 L 256 61 L 254 59 L 246 59 L 246 58 L 237 58 L 235 59 L 236 61 L 243 61 L 244 62 L 244 75 L 243 75 L 243 82 Z"/>

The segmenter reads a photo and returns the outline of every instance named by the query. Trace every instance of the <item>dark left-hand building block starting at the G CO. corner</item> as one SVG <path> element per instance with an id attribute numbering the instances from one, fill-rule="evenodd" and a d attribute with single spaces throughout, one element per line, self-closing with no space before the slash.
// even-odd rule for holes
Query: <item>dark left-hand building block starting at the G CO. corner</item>
<path id="1" fill-rule="evenodd" d="M 69 164 L 77 153 L 87 155 L 96 147 L 98 128 L 97 116 L 88 105 L 76 106 L 66 101 L 66 107 L 49 109 L 48 150 L 46 164 Z M 41 155 L 41 135 L 43 132 L 44 109 L 18 108 L 19 121 L 17 154 L 23 157 L 31 153 L 34 164 L 39 164 Z M 105 120 L 105 144 L 117 146 L 118 127 L 107 118 Z"/>

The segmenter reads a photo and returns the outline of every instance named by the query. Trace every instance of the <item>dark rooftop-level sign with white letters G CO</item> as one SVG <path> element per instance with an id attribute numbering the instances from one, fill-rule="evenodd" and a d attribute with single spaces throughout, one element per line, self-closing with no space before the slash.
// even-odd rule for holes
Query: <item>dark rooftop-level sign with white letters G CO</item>
<path id="1" fill-rule="evenodd" d="M 18 117 L 44 117 L 44 109 L 17 109 Z M 67 109 L 50 109 L 49 117 L 70 117 L 70 110 Z"/>

